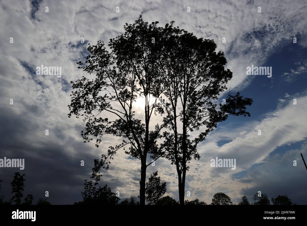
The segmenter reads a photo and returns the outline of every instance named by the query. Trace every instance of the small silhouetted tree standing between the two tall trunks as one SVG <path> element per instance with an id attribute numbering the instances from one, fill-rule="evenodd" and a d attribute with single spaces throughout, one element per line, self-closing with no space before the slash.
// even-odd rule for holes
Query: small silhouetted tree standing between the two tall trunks
<path id="1" fill-rule="evenodd" d="M 148 204 L 157 204 L 157 201 L 166 192 L 166 182 L 161 182 L 158 171 L 150 175 L 149 181 L 146 182 L 146 201 Z"/>

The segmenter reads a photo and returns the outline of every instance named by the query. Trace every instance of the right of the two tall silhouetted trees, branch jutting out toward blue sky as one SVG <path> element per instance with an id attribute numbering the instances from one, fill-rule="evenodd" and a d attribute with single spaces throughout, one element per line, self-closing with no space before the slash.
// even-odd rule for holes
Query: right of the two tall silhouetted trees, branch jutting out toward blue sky
<path id="1" fill-rule="evenodd" d="M 163 94 L 167 99 L 164 122 L 172 131 L 164 132 L 163 145 L 169 150 L 167 157 L 176 165 L 179 200 L 183 205 L 188 163 L 192 158 L 200 158 L 198 143 L 228 115 L 250 116 L 245 109 L 252 100 L 239 93 L 232 96 L 229 91 L 225 104 L 217 104 L 218 96 L 232 78 L 231 71 L 224 69 L 227 61 L 223 52 L 216 53 L 213 40 L 197 38 L 178 28 L 171 29 L 158 74 L 162 76 Z M 203 132 L 189 139 L 189 133 L 201 126 L 206 127 Z"/>

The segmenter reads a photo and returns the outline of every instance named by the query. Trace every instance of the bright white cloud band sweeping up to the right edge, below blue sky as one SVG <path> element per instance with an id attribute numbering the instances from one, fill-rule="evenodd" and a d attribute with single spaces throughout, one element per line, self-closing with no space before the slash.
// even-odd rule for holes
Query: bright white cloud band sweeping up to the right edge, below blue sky
<path id="1" fill-rule="evenodd" d="M 307 128 L 302 126 L 306 125 L 307 122 L 305 117 L 307 96 L 301 96 L 297 100 L 300 103 L 299 105 L 293 105 L 292 101 L 290 101 L 286 106 L 269 113 L 261 122 L 254 121 L 249 123 L 249 126 L 237 128 L 236 130 L 246 131 L 249 127 L 249 132 L 244 133 L 244 137 L 236 137 L 236 131 L 233 130 L 223 130 L 223 132 L 211 134 L 210 138 L 204 142 L 204 145 L 198 147 L 201 156 L 200 161 L 193 161 L 194 164 L 198 165 L 199 169 L 194 170 L 191 167 L 191 171 L 188 172 L 189 175 L 193 175 L 193 180 L 189 181 L 190 189 L 202 191 L 197 195 L 202 197 L 202 200 L 210 202 L 215 192 L 223 191 L 229 194 L 231 198 L 240 198 L 243 191 L 256 186 L 257 180 L 254 177 L 248 176 L 247 179 L 236 180 L 233 174 L 250 169 L 255 164 L 266 164 L 269 161 L 267 157 L 278 147 L 304 141 L 307 138 Z M 261 136 L 258 136 L 258 129 L 261 129 Z M 221 135 L 234 139 L 219 147 L 217 141 L 224 139 L 224 137 L 220 138 Z M 306 151 L 305 148 L 304 150 Z M 296 151 L 296 155 L 298 152 Z M 211 168 L 210 159 L 215 157 L 235 158 L 236 170 L 231 170 L 230 168 Z M 283 157 L 284 161 L 286 161 L 286 158 L 287 156 Z M 293 160 L 295 159 L 288 159 L 290 165 L 293 164 Z M 275 177 L 275 173 L 279 175 L 277 171 L 282 167 L 284 165 L 279 165 L 279 168 L 275 169 L 275 171 L 267 171 L 260 166 L 257 169 L 262 170 L 263 174 L 266 173 L 267 177 Z M 253 170 L 248 172 L 250 174 L 254 173 Z M 270 172 L 269 175 L 267 174 L 268 172 Z M 293 170 L 291 172 L 293 173 Z M 291 177 L 293 177 L 293 174 L 290 172 L 282 175 L 283 183 L 284 181 L 291 180 Z M 261 186 L 264 188 L 265 183 L 266 180 L 263 179 Z M 266 189 L 272 190 L 273 188 L 266 187 Z"/>

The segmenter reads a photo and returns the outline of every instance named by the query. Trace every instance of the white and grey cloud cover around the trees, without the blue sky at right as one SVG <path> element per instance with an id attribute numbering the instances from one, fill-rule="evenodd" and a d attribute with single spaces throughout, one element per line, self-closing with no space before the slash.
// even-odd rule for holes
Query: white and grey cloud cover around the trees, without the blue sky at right
<path id="1" fill-rule="evenodd" d="M 49 13 L 45 13 L 46 6 Z M 120 13 L 115 12 L 117 6 Z M 186 11 L 188 6 L 191 13 Z M 262 7 L 262 13 L 257 12 L 258 6 Z M 112 140 L 106 137 L 99 149 L 94 144 L 84 144 L 80 136 L 84 127 L 82 121 L 67 117 L 71 91 L 69 81 L 85 75 L 76 69 L 76 61 L 84 59 L 87 43 L 95 44 L 100 39 L 107 42 L 122 34 L 123 25 L 133 23 L 140 14 L 146 21 L 159 21 L 160 26 L 174 20 L 176 26 L 193 32 L 197 37 L 214 39 L 218 50 L 226 54 L 227 67 L 234 73 L 228 85 L 242 88 L 252 81 L 252 77 L 245 73 L 246 66 L 250 62 L 255 65 L 263 63 L 283 40 L 299 34 L 302 38 L 298 45 L 306 47 L 307 22 L 302 16 L 305 11 L 306 2 L 303 0 L 295 1 L 295 4 L 293 1 L 1 2 L 1 156 L 25 158 L 23 172 L 27 180 L 24 194 L 31 193 L 37 199 L 49 191 L 52 204 L 81 200 L 83 180 L 91 173 L 93 159 L 99 158 L 108 146 L 116 142 L 114 137 Z M 10 37 L 14 38 L 14 43 L 9 43 Z M 87 40 L 84 47 L 79 44 L 81 37 Z M 226 37 L 226 43 L 222 43 L 223 37 Z M 37 76 L 35 67 L 42 64 L 61 66 L 62 77 Z M 14 105 L 9 105 L 10 99 L 14 99 Z M 306 105 L 305 96 L 297 100 Z M 207 202 L 218 190 L 228 192 L 234 200 L 243 193 L 253 193 L 248 189 L 257 183 L 254 171 L 247 173 L 249 183 L 243 179 L 233 180 L 225 169 L 213 171 L 209 166 L 210 158 L 236 157 L 236 171 L 240 171 L 265 161 L 276 147 L 305 139 L 305 129 L 295 129 L 297 123 L 306 125 L 306 119 L 298 115 L 306 112 L 305 106 L 286 103 L 262 121 L 253 121 L 253 127 L 237 128 L 238 131 L 242 129 L 237 136 L 213 133 L 211 137 L 229 136 L 232 141 L 220 147 L 208 138 L 208 142 L 200 145 L 202 157 L 199 162 L 193 162 L 195 167 L 191 167 L 186 188 Z M 289 118 L 290 115 L 298 118 Z M 157 121 L 159 119 L 153 121 L 153 125 Z M 280 126 L 277 128 L 275 125 Z M 262 135 L 260 139 L 256 133 L 258 128 L 262 129 L 262 134 L 270 136 Z M 49 136 L 45 136 L 46 129 Z M 283 133 L 285 129 L 288 131 L 286 135 Z M 242 131 L 247 133 L 240 135 Z M 252 142 L 255 144 L 251 145 Z M 299 151 L 293 150 L 291 158 L 297 157 Z M 80 167 L 80 160 L 85 161 L 84 168 Z M 276 159 L 269 161 L 278 165 Z M 111 165 L 109 171 L 103 172 L 103 182 L 113 191 L 121 191 L 121 196 L 137 195 L 138 160 L 118 153 L 114 163 L 116 165 Z M 175 168 L 166 160 L 158 160 L 156 167 L 159 175 L 164 175 L 163 179 L 169 181 L 167 194 L 178 199 Z M 265 172 L 263 169 L 259 166 L 260 174 Z M 150 168 L 148 174 L 155 170 Z M 0 171 L 5 199 L 11 196 L 13 173 L 14 169 Z M 290 177 L 291 173 L 285 176 Z M 262 182 L 265 187 L 265 180 Z M 277 178 L 276 182 L 282 183 L 282 180 Z"/>

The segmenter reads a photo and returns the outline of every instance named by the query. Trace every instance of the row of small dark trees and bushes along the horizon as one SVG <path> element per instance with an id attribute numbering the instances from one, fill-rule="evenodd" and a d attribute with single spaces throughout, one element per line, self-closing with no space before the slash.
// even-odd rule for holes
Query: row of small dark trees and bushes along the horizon
<path id="1" fill-rule="evenodd" d="M 160 176 L 157 176 L 157 171 L 150 175 L 149 181 L 146 182 L 146 202 L 147 205 L 180 205 L 179 200 L 175 200 L 173 197 L 164 196 L 166 192 L 166 182 L 161 181 Z M 0 205 L 32 205 L 33 196 L 29 194 L 25 197 L 22 202 L 23 197 L 22 192 L 24 191 L 24 178 L 25 174 L 20 174 L 19 172 L 14 173 L 13 181 L 11 182 L 13 197 L 4 201 L 4 196 L 0 193 Z M 73 205 L 139 205 L 140 202 L 135 196 L 122 197 L 122 201 L 117 196 L 116 193 L 111 191 L 111 188 L 107 184 L 103 187 L 98 187 L 98 183 L 93 181 L 84 180 L 84 191 L 81 192 L 83 201 L 75 202 Z M 0 180 L 0 190 L 1 190 Z M 259 196 L 258 193 L 252 198 L 253 202 L 250 203 L 246 196 L 242 197 L 242 201 L 239 203 L 233 203 L 231 198 L 223 193 L 217 192 L 212 197 L 212 202 L 207 204 L 204 201 L 200 201 L 198 198 L 194 200 L 185 200 L 185 205 L 270 205 L 270 199 L 267 194 L 262 193 Z M 276 198 L 271 198 L 273 205 L 292 205 L 291 199 L 287 195 L 278 195 Z M 35 205 L 51 205 L 47 198 L 39 198 Z M 293 204 L 296 205 L 296 204 Z"/>

